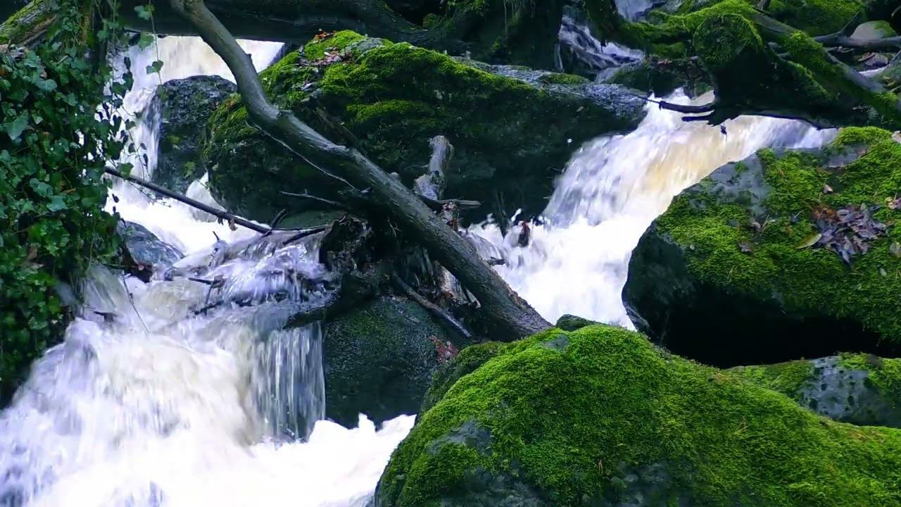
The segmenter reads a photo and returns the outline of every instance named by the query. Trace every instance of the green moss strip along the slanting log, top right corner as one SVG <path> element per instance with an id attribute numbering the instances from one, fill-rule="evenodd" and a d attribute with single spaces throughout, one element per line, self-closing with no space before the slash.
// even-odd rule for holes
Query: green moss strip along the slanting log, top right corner
<path id="1" fill-rule="evenodd" d="M 880 115 L 895 124 L 901 124 L 898 112 L 898 97 L 891 92 L 876 93 L 861 88 L 847 78 L 842 69 L 827 60 L 823 45 L 809 35 L 796 32 L 782 43 L 792 60 L 809 69 L 825 87 L 854 97 L 863 104 L 873 107 Z"/>

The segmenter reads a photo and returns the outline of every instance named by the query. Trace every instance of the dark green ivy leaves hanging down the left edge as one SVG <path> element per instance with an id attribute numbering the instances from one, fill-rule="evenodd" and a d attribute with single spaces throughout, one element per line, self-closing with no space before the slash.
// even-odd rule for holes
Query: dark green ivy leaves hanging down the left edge
<path id="1" fill-rule="evenodd" d="M 0 391 L 61 337 L 66 314 L 54 286 L 117 247 L 102 176 L 122 149 L 122 121 L 109 111 L 128 84 L 105 96 L 110 69 L 86 53 L 119 27 L 105 20 L 86 36 L 83 7 L 60 2 L 34 51 L 0 53 Z"/>

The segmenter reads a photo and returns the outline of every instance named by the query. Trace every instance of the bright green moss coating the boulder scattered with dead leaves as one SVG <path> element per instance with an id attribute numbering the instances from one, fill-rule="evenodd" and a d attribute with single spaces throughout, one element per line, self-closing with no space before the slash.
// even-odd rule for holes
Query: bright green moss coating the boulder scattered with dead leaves
<path id="1" fill-rule="evenodd" d="M 867 143 L 856 161 L 825 169 L 810 153 L 759 153 L 769 196 L 765 211 L 752 216 L 740 199 L 724 202 L 703 193 L 676 198 L 658 220 L 660 231 L 687 249 L 688 269 L 700 281 L 726 290 L 740 290 L 761 300 L 779 300 L 799 315 L 851 318 L 892 341 L 901 340 L 901 265 L 889 253 L 901 241 L 901 228 L 889 227 L 868 253 L 853 258 L 851 267 L 830 250 L 804 247 L 815 235 L 812 210 L 848 205 L 883 205 L 874 215 L 885 224 L 901 211 L 884 205 L 901 189 L 901 144 L 875 128 L 849 128 L 827 152 L 844 152 Z M 824 185 L 835 191 L 824 193 Z M 694 200 L 694 202 L 693 202 Z M 757 226 L 752 226 L 757 224 Z M 747 244 L 751 253 L 739 247 Z"/>

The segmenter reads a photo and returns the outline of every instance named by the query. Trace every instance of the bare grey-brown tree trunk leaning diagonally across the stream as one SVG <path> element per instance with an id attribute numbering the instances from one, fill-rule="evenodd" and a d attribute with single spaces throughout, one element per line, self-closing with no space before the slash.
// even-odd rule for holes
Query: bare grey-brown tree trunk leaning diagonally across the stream
<path id="1" fill-rule="evenodd" d="M 387 217 L 423 244 L 432 257 L 478 298 L 490 323 L 491 337 L 513 340 L 551 327 L 479 258 L 471 244 L 436 217 L 400 181 L 359 151 L 332 143 L 292 113 L 270 104 L 250 58 L 203 0 L 170 0 L 170 5 L 196 27 L 232 70 L 247 107 L 248 120 L 311 166 L 328 168 L 328 172 L 368 193 Z"/>

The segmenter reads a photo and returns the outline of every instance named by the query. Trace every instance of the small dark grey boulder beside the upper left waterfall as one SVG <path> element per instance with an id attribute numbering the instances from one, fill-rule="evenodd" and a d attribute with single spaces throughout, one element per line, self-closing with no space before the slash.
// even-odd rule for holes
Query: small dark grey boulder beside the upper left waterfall
<path id="1" fill-rule="evenodd" d="M 159 112 L 159 150 L 154 183 L 180 194 L 206 171 L 202 154 L 206 123 L 237 88 L 218 76 L 167 81 L 150 102 Z"/>

